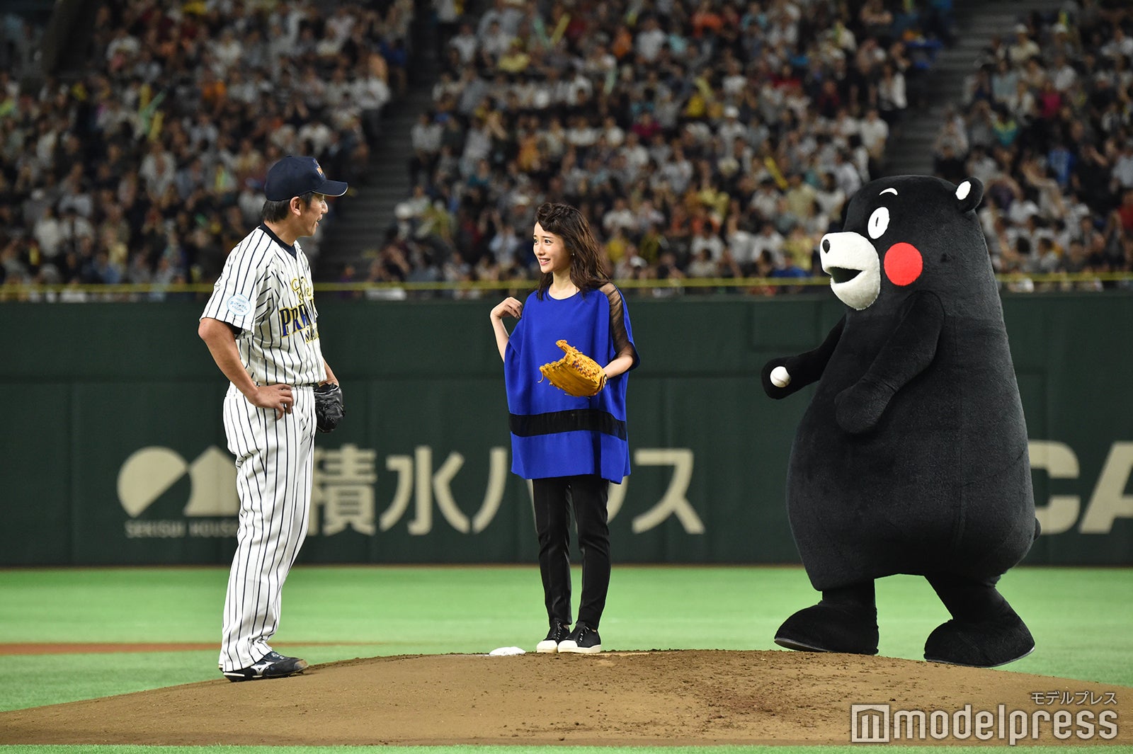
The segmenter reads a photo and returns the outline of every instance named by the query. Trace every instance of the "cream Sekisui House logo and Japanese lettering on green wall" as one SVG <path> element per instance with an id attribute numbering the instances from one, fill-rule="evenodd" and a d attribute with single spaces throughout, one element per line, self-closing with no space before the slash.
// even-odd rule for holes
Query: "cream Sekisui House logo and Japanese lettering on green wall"
<path id="1" fill-rule="evenodd" d="M 384 461 L 384 475 L 392 482 L 386 482 L 385 488 L 392 487 L 392 499 L 380 512 L 377 452 L 351 443 L 337 448 L 316 447 L 307 535 L 332 537 L 347 529 L 374 535 L 404 522 L 406 531 L 419 537 L 434 530 L 434 512 L 440 512 L 441 519 L 453 530 L 478 534 L 500 511 L 510 473 L 508 448 L 488 448 L 484 491 L 460 490 L 461 497 L 480 499 L 476 513 L 468 515 L 457 504 L 453 490 L 453 481 L 466 462 L 461 453 L 453 451 L 437 461 L 431 446 L 420 445 L 412 454 L 391 454 Z M 676 519 L 688 534 L 705 532 L 704 522 L 689 500 L 693 462 L 689 448 L 634 451 L 633 463 L 639 469 L 668 466 L 672 472 L 667 474 L 668 483 L 661 498 L 633 516 L 630 524 L 633 533 L 655 529 L 670 517 Z M 140 517 L 186 475 L 189 498 L 181 511 L 182 519 Z M 625 506 L 629 488 L 630 478 L 611 486 L 608 520 L 613 521 Z M 216 446 L 207 448 L 191 463 L 168 447 L 150 446 L 137 451 L 118 473 L 118 499 L 130 516 L 126 522 L 126 535 L 130 539 L 236 537 L 236 516 L 240 512 L 236 464 L 231 455 Z"/>

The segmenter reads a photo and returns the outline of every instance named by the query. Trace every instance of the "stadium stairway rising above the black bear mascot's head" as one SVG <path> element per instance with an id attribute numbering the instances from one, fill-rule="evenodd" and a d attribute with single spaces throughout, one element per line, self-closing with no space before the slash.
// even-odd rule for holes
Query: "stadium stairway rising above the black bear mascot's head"
<path id="1" fill-rule="evenodd" d="M 1032 11 L 1055 11 L 1060 0 L 956 0 L 956 44 L 936 57 L 926 87 L 932 93 L 926 108 L 910 106 L 895 138 L 886 147 L 886 175 L 932 174 L 932 143 L 949 106 L 964 95 L 964 79 L 974 70 L 980 51 L 995 34 L 1011 42 L 1011 29 Z"/>

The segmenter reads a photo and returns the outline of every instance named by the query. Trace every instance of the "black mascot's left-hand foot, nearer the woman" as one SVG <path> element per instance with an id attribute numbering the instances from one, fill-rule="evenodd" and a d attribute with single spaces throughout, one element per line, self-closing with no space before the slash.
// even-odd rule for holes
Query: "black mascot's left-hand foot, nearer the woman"
<path id="1" fill-rule="evenodd" d="M 802 652 L 877 654 L 877 610 L 819 602 L 783 622 L 775 643 Z"/>

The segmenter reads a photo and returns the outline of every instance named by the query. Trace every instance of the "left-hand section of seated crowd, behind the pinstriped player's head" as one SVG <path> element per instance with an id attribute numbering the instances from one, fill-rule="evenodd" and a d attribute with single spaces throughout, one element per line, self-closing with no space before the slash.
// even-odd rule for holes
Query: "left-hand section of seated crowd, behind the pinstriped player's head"
<path id="1" fill-rule="evenodd" d="M 109 0 L 87 75 L 0 70 L 0 283 L 212 282 L 279 157 L 365 182 L 414 15 L 370 5 Z"/>

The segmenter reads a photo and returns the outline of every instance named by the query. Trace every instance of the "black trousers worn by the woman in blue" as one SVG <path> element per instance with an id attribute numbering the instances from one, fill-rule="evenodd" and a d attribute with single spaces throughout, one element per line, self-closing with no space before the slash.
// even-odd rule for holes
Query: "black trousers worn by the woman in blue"
<path id="1" fill-rule="evenodd" d="M 539 574 L 547 617 L 570 625 L 570 514 L 574 508 L 582 551 L 582 602 L 579 623 L 598 627 L 610 589 L 610 482 L 597 474 L 533 479 L 535 531 L 539 535 Z"/>

